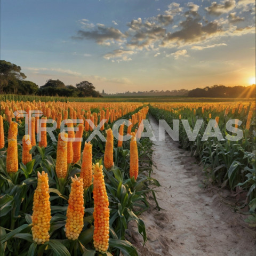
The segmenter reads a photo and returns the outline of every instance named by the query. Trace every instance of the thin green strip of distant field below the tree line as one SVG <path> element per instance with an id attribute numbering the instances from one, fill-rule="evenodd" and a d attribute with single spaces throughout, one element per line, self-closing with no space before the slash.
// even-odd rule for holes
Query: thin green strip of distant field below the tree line
<path id="1" fill-rule="evenodd" d="M 167 96 L 147 96 L 147 97 L 104 97 L 104 98 L 67 98 L 52 96 L 35 96 L 35 95 L 15 95 L 2 94 L 0 101 L 61 101 L 61 102 L 251 102 L 255 98 L 188 98 L 188 97 L 167 97 Z"/>

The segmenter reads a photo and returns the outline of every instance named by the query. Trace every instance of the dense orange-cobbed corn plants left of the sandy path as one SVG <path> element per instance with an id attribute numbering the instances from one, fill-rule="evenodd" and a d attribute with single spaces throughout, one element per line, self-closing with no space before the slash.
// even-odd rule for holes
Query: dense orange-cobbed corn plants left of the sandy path
<path id="1" fill-rule="evenodd" d="M 70 128 L 77 126 L 76 132 L 65 133 L 57 126 L 53 132 L 56 142 L 49 134 L 42 134 L 41 142 L 32 143 L 25 134 L 25 118 L 12 115 L 21 107 L 41 108 L 43 119 L 55 115 L 58 121 L 58 117 L 79 115 L 84 122 L 68 124 Z M 99 113 L 93 114 L 90 107 Z M 135 221 L 146 242 L 139 214 L 149 207 L 148 193 L 157 204 L 150 185 L 159 186 L 150 177 L 151 141 L 137 140 L 138 122 L 148 111 L 141 107 L 1 102 L 0 255 L 138 255 L 125 239 L 125 230 Z M 92 134 L 90 127 L 85 127 L 86 118 L 93 116 L 92 123 L 97 126 L 107 113 L 100 131 L 107 142 L 97 136 L 85 142 Z M 131 134 L 131 141 L 113 138 L 111 128 L 119 118 L 133 121 L 132 127 L 120 131 Z M 33 122 L 39 121 L 35 118 Z M 32 137 L 36 133 L 35 128 Z M 81 135 L 82 142 L 63 139 Z"/>

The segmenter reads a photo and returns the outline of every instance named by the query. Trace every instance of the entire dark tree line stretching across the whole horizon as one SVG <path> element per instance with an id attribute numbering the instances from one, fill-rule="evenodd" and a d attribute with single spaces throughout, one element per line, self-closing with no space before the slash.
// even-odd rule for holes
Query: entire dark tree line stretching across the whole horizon
<path id="1" fill-rule="evenodd" d="M 30 94 L 63 97 L 129 97 L 129 96 L 181 96 L 191 98 L 255 98 L 255 84 L 251 86 L 225 86 L 213 85 L 193 90 L 172 90 L 172 91 L 138 91 L 107 94 L 102 91 L 100 94 L 88 81 L 82 81 L 76 86 L 65 85 L 59 79 L 49 79 L 39 87 L 31 81 L 26 81 L 26 75 L 21 72 L 21 67 L 9 61 L 0 60 L 0 93 L 1 94 Z"/>

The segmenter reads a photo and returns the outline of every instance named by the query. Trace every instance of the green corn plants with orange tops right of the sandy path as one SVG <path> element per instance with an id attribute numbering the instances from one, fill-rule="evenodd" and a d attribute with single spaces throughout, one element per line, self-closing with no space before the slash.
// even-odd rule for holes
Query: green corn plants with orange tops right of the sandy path
<path id="1" fill-rule="evenodd" d="M 256 223 L 256 169 L 255 169 L 255 103 L 157 103 L 149 108 L 156 119 L 165 119 L 173 127 L 173 119 L 179 119 L 179 142 L 182 148 L 190 150 L 191 155 L 204 164 L 207 178 L 221 188 L 246 191 L 243 213 L 249 214 L 246 219 L 250 225 Z M 197 119 L 203 119 L 194 141 L 188 139 L 187 132 L 180 119 L 186 119 L 194 130 Z M 202 141 L 207 124 L 215 119 L 223 137 L 233 135 L 226 130 L 230 119 L 239 119 L 242 124 L 235 127 L 243 131 L 243 138 L 238 141 L 218 140 L 209 137 Z M 235 135 L 235 134 L 234 134 Z M 246 209 L 249 209 L 246 210 Z"/>

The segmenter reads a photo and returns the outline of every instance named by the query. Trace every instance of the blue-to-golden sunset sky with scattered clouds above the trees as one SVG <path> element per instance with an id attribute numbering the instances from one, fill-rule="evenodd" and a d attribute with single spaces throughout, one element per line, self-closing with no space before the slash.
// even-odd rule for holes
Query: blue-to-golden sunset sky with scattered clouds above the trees
<path id="1" fill-rule="evenodd" d="M 1 60 L 106 93 L 255 83 L 255 1 L 1 0 Z"/>

